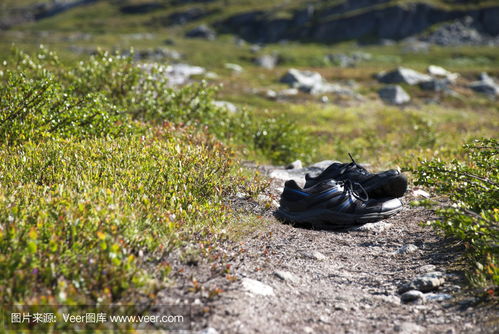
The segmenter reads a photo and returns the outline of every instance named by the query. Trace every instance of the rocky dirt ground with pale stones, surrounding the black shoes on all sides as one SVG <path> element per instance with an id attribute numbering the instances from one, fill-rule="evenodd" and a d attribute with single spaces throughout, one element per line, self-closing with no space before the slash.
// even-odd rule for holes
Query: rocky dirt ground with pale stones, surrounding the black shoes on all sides
<path id="1" fill-rule="evenodd" d="M 406 205 L 390 219 L 341 231 L 275 220 L 282 179 L 320 166 L 262 168 L 274 176 L 273 192 L 260 198 L 270 209 L 246 203 L 244 210 L 260 210 L 261 228 L 221 245 L 225 278 L 213 264 L 179 271 L 178 279 L 205 284 L 191 296 L 199 333 L 497 333 L 497 310 L 465 289 L 456 265 L 462 247 L 421 225 L 431 212 Z M 404 201 L 421 194 L 410 189 Z M 215 289 L 223 292 L 210 298 Z"/>

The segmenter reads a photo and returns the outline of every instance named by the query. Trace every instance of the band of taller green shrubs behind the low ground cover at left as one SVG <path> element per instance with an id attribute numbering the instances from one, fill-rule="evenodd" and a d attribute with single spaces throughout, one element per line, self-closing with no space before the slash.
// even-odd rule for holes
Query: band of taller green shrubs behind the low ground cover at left
<path id="1" fill-rule="evenodd" d="M 3 141 L 116 137 L 134 130 L 131 120 L 167 121 L 207 129 L 275 163 L 310 157 L 304 132 L 285 117 L 231 113 L 213 104 L 216 88 L 204 82 L 169 86 L 164 66 L 144 69 L 132 57 L 107 52 L 63 66 L 43 47 L 34 57 L 15 50 L 6 65 L 0 70 Z"/>

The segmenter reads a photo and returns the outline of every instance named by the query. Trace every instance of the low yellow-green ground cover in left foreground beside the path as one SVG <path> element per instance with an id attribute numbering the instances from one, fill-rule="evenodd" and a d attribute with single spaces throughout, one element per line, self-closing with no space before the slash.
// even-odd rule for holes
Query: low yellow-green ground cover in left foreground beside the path
<path id="1" fill-rule="evenodd" d="M 105 303 L 168 279 L 158 259 L 185 242 L 215 242 L 237 221 L 226 199 L 261 190 L 231 156 L 173 126 L 2 146 L 2 302 Z"/>

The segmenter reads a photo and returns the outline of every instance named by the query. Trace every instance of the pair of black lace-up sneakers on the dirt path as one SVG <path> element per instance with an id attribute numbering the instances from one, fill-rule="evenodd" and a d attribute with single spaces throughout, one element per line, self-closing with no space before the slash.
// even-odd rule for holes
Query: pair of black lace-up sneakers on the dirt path
<path id="1" fill-rule="evenodd" d="M 406 176 L 394 169 L 371 174 L 350 158 L 351 163 L 334 163 L 317 177 L 307 174 L 303 189 L 294 180 L 286 181 L 276 216 L 292 223 L 344 227 L 399 212 Z"/>

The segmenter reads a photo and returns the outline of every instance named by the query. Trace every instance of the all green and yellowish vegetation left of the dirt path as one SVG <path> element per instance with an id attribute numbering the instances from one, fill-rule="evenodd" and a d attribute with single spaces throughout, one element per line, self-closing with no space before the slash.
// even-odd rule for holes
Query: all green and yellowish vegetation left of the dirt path
<path id="1" fill-rule="evenodd" d="M 224 237 L 241 224 L 227 199 L 264 185 L 215 135 L 230 141 L 246 131 L 249 147 L 270 154 L 285 146 L 250 132 L 259 122 L 250 116 L 237 127 L 215 122 L 229 115 L 212 106 L 210 89 L 173 91 L 124 58 L 64 67 L 47 50 L 17 52 L 0 78 L 4 304 L 109 303 L 151 292 L 149 282 L 169 279 L 163 255 Z M 278 142 L 285 125 L 262 124 Z"/>

